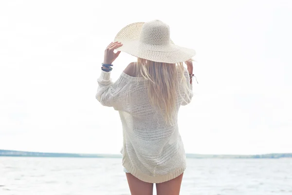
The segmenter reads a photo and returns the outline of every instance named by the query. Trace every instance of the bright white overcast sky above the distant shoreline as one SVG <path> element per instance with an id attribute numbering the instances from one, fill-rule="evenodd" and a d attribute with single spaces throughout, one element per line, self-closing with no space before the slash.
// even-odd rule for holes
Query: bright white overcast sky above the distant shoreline
<path id="1" fill-rule="evenodd" d="M 117 111 L 95 99 L 105 47 L 162 20 L 197 51 L 186 153 L 292 152 L 291 0 L 1 0 L 0 149 L 119 154 Z M 122 53 L 113 80 L 135 58 Z"/>

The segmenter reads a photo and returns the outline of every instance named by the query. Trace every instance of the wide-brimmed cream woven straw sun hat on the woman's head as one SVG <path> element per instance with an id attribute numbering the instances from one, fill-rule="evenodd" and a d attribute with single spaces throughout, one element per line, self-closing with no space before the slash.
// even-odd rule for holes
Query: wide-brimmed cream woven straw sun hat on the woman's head
<path id="1" fill-rule="evenodd" d="M 156 62 L 178 63 L 196 55 L 193 49 L 175 45 L 170 39 L 169 26 L 160 20 L 129 24 L 114 41 L 123 43 L 116 50 Z"/>

